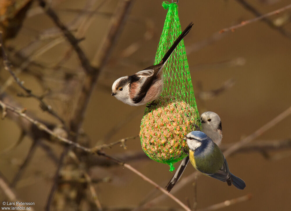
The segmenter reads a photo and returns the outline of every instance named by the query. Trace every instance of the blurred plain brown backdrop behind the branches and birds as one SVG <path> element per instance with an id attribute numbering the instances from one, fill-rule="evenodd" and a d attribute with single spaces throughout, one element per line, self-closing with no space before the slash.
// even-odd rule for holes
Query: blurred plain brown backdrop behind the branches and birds
<path id="1" fill-rule="evenodd" d="M 87 8 L 88 11 L 102 4 L 93 15 L 88 30 L 81 36 L 85 40 L 80 42 L 80 46 L 92 60 L 107 33 L 110 17 L 120 1 L 53 0 L 49 2 L 61 21 L 72 25 L 73 33 L 77 33 L 78 29 L 74 19 L 86 4 L 92 3 Z M 289 0 L 248 2 L 262 14 L 290 4 Z M 102 69 L 85 113 L 82 129 L 88 136 L 91 146 L 108 144 L 139 134 L 145 106 L 135 108 L 116 100 L 110 95 L 111 85 L 117 78 L 133 74 L 153 63 L 167 12 L 161 4 L 162 1 L 157 0 L 138 0 L 132 3 L 124 28 L 117 37 L 106 66 Z M 291 37 L 282 35 L 279 30 L 271 28 L 262 21 L 238 28 L 235 32 L 218 34 L 217 32 L 222 28 L 255 17 L 239 1 L 180 0 L 178 7 L 182 28 L 189 22 L 194 22 L 191 32 L 184 38 L 184 43 L 198 110 L 200 113 L 210 110 L 219 114 L 223 127 L 222 144 L 238 142 L 291 105 Z M 291 33 L 290 17 L 291 10 L 287 10 L 269 19 Z M 42 12 L 38 2 L 33 2 L 26 12 L 22 28 L 14 38 L 5 42 L 15 66 L 17 64 L 20 66 L 23 60 L 15 59 L 13 52 L 21 51 L 32 41 L 40 39 L 39 35 L 47 29 L 58 32 L 51 19 Z M 49 32 L 46 31 L 47 34 Z M 61 33 L 53 35 L 53 38 L 43 38 L 39 46 L 31 49 L 31 54 L 52 40 L 62 37 Z M 136 51 L 125 51 L 129 46 L 136 47 Z M 19 75 L 19 78 L 25 81 L 26 87 L 33 90 L 35 94 L 41 95 L 45 90 L 50 90 L 44 100 L 65 119 L 70 117 L 70 111 L 74 108 L 76 96 L 80 92 L 80 84 L 83 83 L 83 73 L 74 51 L 70 59 L 61 64 L 59 69 L 55 66 L 69 49 L 68 42 L 62 40 L 34 60 L 41 64 L 41 67 L 29 64 L 28 70 L 22 71 Z M 43 80 L 40 82 L 33 74 L 42 74 Z M 65 75 L 72 76 L 74 80 L 65 81 Z M 0 86 L 3 86 L 9 78 L 9 73 L 2 65 L 0 78 Z M 223 86 L 230 79 L 233 79 L 234 85 L 223 92 L 213 97 L 203 95 L 205 91 Z M 21 107 L 27 108 L 34 117 L 59 124 L 55 118 L 40 110 L 39 103 L 35 99 L 17 97 L 16 94 L 22 91 L 16 83 L 13 82 L 5 92 L 21 103 Z M 291 117 L 287 117 L 257 140 L 290 139 L 290 125 Z M 112 128 L 115 130 L 112 131 Z M 1 151 L 15 144 L 20 133 L 17 120 L 9 118 L 1 120 Z M 26 136 L 15 149 L 1 153 L 0 171 L 8 180 L 11 181 L 17 173 L 31 143 L 31 138 Z M 49 145 L 59 156 L 63 146 L 57 142 Z M 126 145 L 127 150 L 114 146 L 105 151 L 112 156 L 142 151 L 138 138 L 128 140 Z M 270 153 L 270 159 L 264 158 L 257 152 L 238 153 L 228 157 L 230 170 L 244 179 L 246 188 L 239 191 L 218 180 L 200 176 L 197 180 L 198 208 L 251 193 L 253 198 L 250 201 L 237 203 L 223 210 L 290 210 L 290 155 L 290 149 L 287 149 Z M 128 163 L 162 187 L 173 175 L 168 171 L 169 167 L 166 164 L 149 158 Z M 175 167 L 178 167 L 178 164 Z M 55 170 L 56 165 L 42 149 L 37 148 L 14 188 L 17 197 L 22 201 L 35 202 L 33 208 L 43 210 Z M 193 172 L 194 168 L 189 165 L 182 178 Z M 89 174 L 92 179 L 111 178 L 109 183 L 94 185 L 104 207 L 134 208 L 143 200 L 150 201 L 161 194 L 157 190 L 152 191 L 154 189 L 152 185 L 121 166 L 109 168 L 95 166 L 89 169 Z M 189 183 L 174 195 L 184 203 L 188 197 L 192 204 L 194 190 L 191 184 Z M 3 200 L 8 199 L 0 191 L 0 201 Z M 180 209 L 179 205 L 168 197 L 153 208 L 155 206 Z"/>

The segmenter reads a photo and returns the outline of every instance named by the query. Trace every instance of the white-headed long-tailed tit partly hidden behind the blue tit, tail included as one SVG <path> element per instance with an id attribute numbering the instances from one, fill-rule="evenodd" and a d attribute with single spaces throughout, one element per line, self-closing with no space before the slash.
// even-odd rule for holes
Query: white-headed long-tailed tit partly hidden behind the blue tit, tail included
<path id="1" fill-rule="evenodd" d="M 202 124 L 202 132 L 205 133 L 210 139 L 219 146 L 222 139 L 222 127 L 221 120 L 217 113 L 212 111 L 206 111 L 200 116 L 200 122 Z M 185 157 L 170 182 L 167 184 L 166 189 L 168 192 L 174 187 L 182 176 L 187 164 L 189 163 L 189 156 Z"/>

